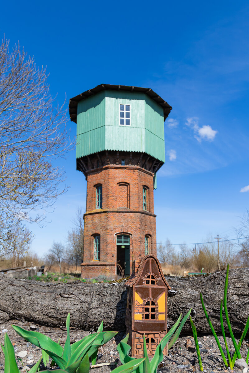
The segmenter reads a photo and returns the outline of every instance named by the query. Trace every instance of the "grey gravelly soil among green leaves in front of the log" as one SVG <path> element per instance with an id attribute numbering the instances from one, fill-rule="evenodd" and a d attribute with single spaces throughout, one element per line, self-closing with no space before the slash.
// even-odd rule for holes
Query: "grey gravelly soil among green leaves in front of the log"
<path id="1" fill-rule="evenodd" d="M 12 320 L 14 325 L 21 326 L 24 329 L 30 330 L 31 327 L 37 327 L 36 330 L 44 333 L 45 335 L 52 338 L 54 341 L 60 339 L 60 343 L 63 345 L 66 340 L 66 330 L 61 329 L 51 329 L 49 327 L 34 325 L 29 322 L 20 322 L 17 320 Z M 18 367 L 21 372 L 27 372 L 41 357 L 41 350 L 30 343 L 24 341 L 16 332 L 12 329 L 10 322 L 0 324 L 0 341 L 4 344 L 4 333 L 3 329 L 8 330 L 8 335 L 15 349 L 16 358 L 18 362 Z M 92 330 L 93 332 L 94 330 Z M 87 332 L 83 332 L 78 329 L 70 328 L 71 342 L 76 342 L 82 339 Z M 124 338 L 124 332 L 119 332 L 115 338 L 106 343 L 103 347 L 99 349 L 98 359 L 96 364 L 102 363 L 113 363 L 111 366 L 102 366 L 99 368 L 92 369 L 93 373 L 109 373 L 116 365 L 120 365 L 118 351 L 116 350 L 117 344 L 120 340 Z M 218 337 L 221 346 L 225 349 L 224 341 L 222 336 Z M 188 341 L 187 341 L 188 340 Z M 202 356 L 202 364 L 205 373 L 212 372 L 229 372 L 225 369 L 223 360 L 218 350 L 215 339 L 212 335 L 203 335 L 198 337 L 199 347 Z M 186 348 L 186 342 L 190 343 L 190 347 Z M 230 338 L 227 338 L 228 348 L 233 352 L 233 344 Z M 192 347 L 191 347 L 192 344 Z M 248 347 L 242 345 L 241 353 L 242 358 L 246 358 Z M 24 358 L 18 357 L 21 351 L 27 351 L 27 356 Z M 25 353 L 26 354 L 26 353 Z M 51 362 L 51 360 L 50 360 Z M 43 363 L 41 363 L 41 371 L 44 369 Z M 53 371 L 54 369 L 52 369 Z M 0 372 L 4 372 L 4 355 L 1 351 L 0 353 Z M 197 360 L 196 350 L 194 347 L 194 340 L 192 335 L 182 336 L 178 339 L 178 342 L 169 350 L 168 356 L 164 358 L 164 361 L 159 365 L 158 373 L 164 372 L 200 372 L 199 364 Z M 242 369 L 238 367 L 234 368 L 234 372 L 242 372 Z M 244 370 L 245 373 L 245 370 Z"/>

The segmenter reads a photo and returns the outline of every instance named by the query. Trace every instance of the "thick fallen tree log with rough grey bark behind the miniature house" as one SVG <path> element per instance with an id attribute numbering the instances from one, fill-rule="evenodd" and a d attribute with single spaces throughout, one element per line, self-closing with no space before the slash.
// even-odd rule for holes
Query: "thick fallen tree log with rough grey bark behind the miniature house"
<path id="1" fill-rule="evenodd" d="M 202 292 L 206 309 L 217 332 L 220 332 L 220 300 L 223 297 L 225 271 L 211 275 L 166 277 L 172 290 L 168 294 L 168 326 L 179 314 L 192 308 L 197 332 L 209 326 L 200 304 Z M 65 325 L 68 312 L 71 326 L 96 329 L 104 319 L 105 329 L 125 330 L 127 290 L 121 283 L 49 283 L 19 280 L 0 275 L 0 322 L 27 320 L 47 326 Z M 249 315 L 249 268 L 229 271 L 228 313 L 234 333 L 242 332 Z M 191 332 L 190 323 L 183 329 Z"/>

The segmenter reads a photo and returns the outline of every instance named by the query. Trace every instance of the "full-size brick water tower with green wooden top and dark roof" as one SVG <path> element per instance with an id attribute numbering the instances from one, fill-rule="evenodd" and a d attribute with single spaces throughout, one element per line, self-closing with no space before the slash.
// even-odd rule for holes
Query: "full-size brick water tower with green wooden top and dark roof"
<path id="1" fill-rule="evenodd" d="M 87 180 L 82 277 L 127 276 L 134 260 L 156 255 L 153 189 L 170 110 L 149 88 L 102 84 L 71 98 Z"/>

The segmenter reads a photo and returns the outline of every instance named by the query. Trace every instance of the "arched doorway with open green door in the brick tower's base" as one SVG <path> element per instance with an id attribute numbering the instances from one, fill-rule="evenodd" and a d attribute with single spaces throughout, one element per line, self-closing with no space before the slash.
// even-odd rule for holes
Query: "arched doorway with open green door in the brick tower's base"
<path id="1" fill-rule="evenodd" d="M 117 275 L 130 276 L 130 236 L 117 236 Z"/>

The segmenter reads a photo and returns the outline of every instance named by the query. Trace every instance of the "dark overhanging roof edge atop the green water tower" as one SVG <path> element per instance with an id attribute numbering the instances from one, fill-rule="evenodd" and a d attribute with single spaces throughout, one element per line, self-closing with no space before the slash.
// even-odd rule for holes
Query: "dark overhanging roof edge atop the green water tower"
<path id="1" fill-rule="evenodd" d="M 84 98 L 90 97 L 93 94 L 99 93 L 101 91 L 129 91 L 129 92 L 141 92 L 147 94 L 152 100 L 156 101 L 156 103 L 164 109 L 164 120 L 169 115 L 170 110 L 172 107 L 164 101 L 162 97 L 152 91 L 150 88 L 143 88 L 143 87 L 133 87 L 131 85 L 113 85 L 113 84 L 100 84 L 97 87 L 91 88 L 88 91 L 85 91 L 78 96 L 72 97 L 69 100 L 69 115 L 72 122 L 77 123 L 77 106 L 78 102 L 84 100 Z"/>

